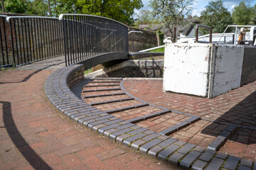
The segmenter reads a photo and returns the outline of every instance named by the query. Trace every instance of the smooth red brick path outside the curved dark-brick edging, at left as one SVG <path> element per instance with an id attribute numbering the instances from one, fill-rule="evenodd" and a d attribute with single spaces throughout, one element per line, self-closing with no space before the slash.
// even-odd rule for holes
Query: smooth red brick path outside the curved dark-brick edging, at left
<path id="1" fill-rule="evenodd" d="M 43 84 L 53 70 L 0 72 L 0 169 L 178 169 L 66 118 Z"/>

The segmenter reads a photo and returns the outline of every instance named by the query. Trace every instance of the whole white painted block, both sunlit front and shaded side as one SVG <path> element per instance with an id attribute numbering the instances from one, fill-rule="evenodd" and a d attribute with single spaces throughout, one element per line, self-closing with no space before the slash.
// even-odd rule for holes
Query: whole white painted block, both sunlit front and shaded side
<path id="1" fill-rule="evenodd" d="M 164 91 L 213 98 L 240 86 L 244 47 L 167 43 Z"/>

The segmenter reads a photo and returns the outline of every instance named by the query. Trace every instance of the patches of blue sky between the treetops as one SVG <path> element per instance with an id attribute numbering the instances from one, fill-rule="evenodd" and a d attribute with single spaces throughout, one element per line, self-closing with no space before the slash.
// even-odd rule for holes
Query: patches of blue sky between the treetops
<path id="1" fill-rule="evenodd" d="M 142 0 L 143 3 L 143 8 L 141 9 L 149 9 L 149 1 L 150 0 Z M 208 2 L 211 0 L 194 0 L 193 2 L 193 11 L 192 11 L 192 16 L 200 16 L 201 11 L 203 10 L 203 8 L 205 8 L 205 6 L 208 5 Z M 232 12 L 233 8 L 235 6 L 238 6 L 238 4 L 241 2 L 242 0 L 223 0 L 223 5 L 225 6 L 225 8 L 228 8 L 228 11 Z M 256 0 L 247 0 L 247 2 L 250 3 L 250 5 L 255 5 L 256 4 Z M 136 13 L 138 11 L 135 11 Z"/>

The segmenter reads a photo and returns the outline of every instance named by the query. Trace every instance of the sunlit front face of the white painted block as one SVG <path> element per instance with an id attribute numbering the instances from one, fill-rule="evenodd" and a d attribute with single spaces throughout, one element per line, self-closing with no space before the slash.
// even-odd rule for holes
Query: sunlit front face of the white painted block
<path id="1" fill-rule="evenodd" d="M 206 96 L 209 44 L 166 44 L 164 91 Z"/>

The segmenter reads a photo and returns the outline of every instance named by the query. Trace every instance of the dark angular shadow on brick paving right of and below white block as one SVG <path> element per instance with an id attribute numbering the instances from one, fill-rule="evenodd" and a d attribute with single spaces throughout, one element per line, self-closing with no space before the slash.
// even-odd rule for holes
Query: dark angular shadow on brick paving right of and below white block
<path id="1" fill-rule="evenodd" d="M 238 127 L 229 137 L 229 140 L 245 145 L 256 144 L 256 91 L 221 115 L 215 120 L 215 123 L 211 123 L 201 132 L 217 137 L 222 131 L 219 130 L 218 132 L 217 126 L 225 125 L 225 123 L 231 123 Z"/>

